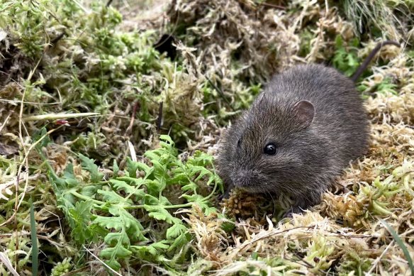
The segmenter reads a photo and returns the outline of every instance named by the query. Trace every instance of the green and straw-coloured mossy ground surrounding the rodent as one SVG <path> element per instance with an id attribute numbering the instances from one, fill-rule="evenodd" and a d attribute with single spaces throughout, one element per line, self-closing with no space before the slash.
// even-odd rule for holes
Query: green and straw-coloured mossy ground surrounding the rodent
<path id="1" fill-rule="evenodd" d="M 410 0 L 2 1 L 0 273 L 413 275 L 413 22 Z M 216 190 L 206 185 L 214 168 L 200 156 L 216 155 L 220 133 L 272 74 L 319 62 L 349 75 L 384 39 L 402 47 L 385 47 L 358 80 L 371 147 L 337 181 L 341 189 L 291 221 L 280 220 L 284 199 L 234 191 L 220 204 L 218 193 L 207 196 Z M 167 147 L 160 134 L 178 150 L 161 161 L 144 155 Z M 185 188 L 170 183 L 159 198 L 186 208 L 145 213 L 141 206 L 153 202 L 142 193 L 154 187 L 130 192 L 137 199 L 128 187 L 116 190 L 117 175 L 147 168 L 138 161 L 164 166 L 177 182 L 189 174 Z M 119 229 L 94 221 L 110 208 L 62 205 L 56 183 L 64 179 L 69 203 L 75 192 L 91 196 L 70 186 L 81 183 L 141 204 L 128 214 L 142 223 L 142 239 L 121 230 L 131 255 L 107 258 L 114 245 L 104 237 Z M 74 211 L 86 214 L 84 224 Z M 167 228 L 177 218 L 174 236 Z M 80 226 L 94 231 L 77 236 Z"/>

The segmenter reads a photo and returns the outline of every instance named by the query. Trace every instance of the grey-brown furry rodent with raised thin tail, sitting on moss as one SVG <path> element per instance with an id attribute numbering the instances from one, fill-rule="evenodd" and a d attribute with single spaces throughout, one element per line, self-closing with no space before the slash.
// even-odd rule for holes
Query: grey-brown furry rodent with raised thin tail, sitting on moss
<path id="1" fill-rule="evenodd" d="M 369 120 L 352 77 L 325 65 L 297 65 L 276 74 L 249 110 L 221 138 L 218 174 L 249 192 L 282 193 L 295 202 L 284 217 L 319 204 L 349 162 L 366 153 Z"/>

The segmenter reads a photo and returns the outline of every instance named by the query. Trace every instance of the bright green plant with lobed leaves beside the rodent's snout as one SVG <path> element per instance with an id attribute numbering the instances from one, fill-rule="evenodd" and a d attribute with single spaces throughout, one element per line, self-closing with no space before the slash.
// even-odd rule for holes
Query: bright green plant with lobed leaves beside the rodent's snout
<path id="1" fill-rule="evenodd" d="M 119 170 L 115 162 L 111 177 L 81 154 L 82 170 L 75 174 L 69 164 L 59 177 L 42 153 L 47 144 L 38 147 L 73 240 L 79 247 L 104 242 L 99 256 L 113 270 L 120 270 L 121 263 L 135 267 L 143 262 L 178 269 L 188 262 L 191 241 L 182 210 L 196 204 L 206 215 L 217 212 L 211 198 L 217 190 L 223 192 L 223 184 L 213 158 L 198 151 L 182 162 L 171 138 L 160 139 L 160 148 L 145 153 L 150 165 L 128 159 L 125 170 Z M 209 194 L 203 194 L 202 187 L 209 186 Z M 177 199 L 182 203 L 172 204 Z M 176 215 L 172 210 L 177 209 L 181 211 Z"/>

